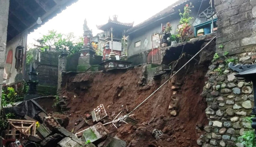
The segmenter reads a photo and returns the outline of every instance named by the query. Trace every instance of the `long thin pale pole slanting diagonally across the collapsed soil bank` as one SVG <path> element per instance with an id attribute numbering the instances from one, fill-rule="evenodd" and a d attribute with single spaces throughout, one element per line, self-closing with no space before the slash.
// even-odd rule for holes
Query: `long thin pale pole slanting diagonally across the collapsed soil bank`
<path id="1" fill-rule="evenodd" d="M 216 38 L 216 36 L 214 38 L 211 39 L 211 41 L 213 41 Z M 159 89 L 161 89 L 161 87 L 163 87 L 171 78 L 173 78 L 181 69 L 183 69 L 183 67 L 185 67 L 193 58 L 195 58 L 196 55 L 198 55 L 206 46 L 208 46 L 208 44 L 211 43 L 211 41 L 209 41 L 201 50 L 199 50 L 187 63 L 185 63 L 177 72 L 175 72 L 167 81 L 164 82 L 164 84 L 162 84 L 160 87 L 157 88 L 157 90 L 155 90 L 153 93 L 151 93 L 142 103 L 140 103 L 137 107 L 135 107 L 130 113 L 128 113 L 127 115 L 125 115 L 123 117 L 123 119 L 121 119 L 119 122 L 123 121 L 127 116 L 129 116 L 131 113 L 133 113 L 133 111 L 135 111 L 137 108 L 139 108 L 143 103 L 145 103 L 152 95 L 154 95 Z"/>

